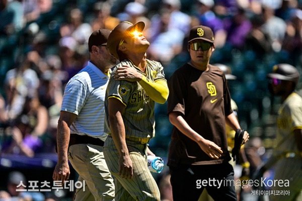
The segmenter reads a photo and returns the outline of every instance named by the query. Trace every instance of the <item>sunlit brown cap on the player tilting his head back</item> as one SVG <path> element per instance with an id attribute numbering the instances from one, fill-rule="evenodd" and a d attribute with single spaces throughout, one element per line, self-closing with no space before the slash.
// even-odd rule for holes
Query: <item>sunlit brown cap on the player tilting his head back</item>
<path id="1" fill-rule="evenodd" d="M 130 22 L 123 21 L 120 24 L 118 24 L 110 33 L 108 37 L 107 47 L 115 58 L 119 59 L 119 56 L 117 54 L 117 49 L 120 41 L 124 39 L 125 37 L 129 36 L 131 32 L 137 30 L 139 32 L 142 32 L 144 29 L 145 24 L 142 21 L 139 21 L 135 23 L 134 25 Z"/>

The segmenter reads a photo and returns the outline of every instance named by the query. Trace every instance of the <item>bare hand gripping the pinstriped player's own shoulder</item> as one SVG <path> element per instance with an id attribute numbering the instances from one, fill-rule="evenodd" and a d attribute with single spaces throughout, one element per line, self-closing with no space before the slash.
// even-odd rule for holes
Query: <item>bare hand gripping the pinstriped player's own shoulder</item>
<path id="1" fill-rule="evenodd" d="M 114 73 L 114 78 L 116 80 L 127 80 L 127 81 L 140 81 L 142 74 L 139 73 L 135 68 L 124 64 L 116 69 Z"/>

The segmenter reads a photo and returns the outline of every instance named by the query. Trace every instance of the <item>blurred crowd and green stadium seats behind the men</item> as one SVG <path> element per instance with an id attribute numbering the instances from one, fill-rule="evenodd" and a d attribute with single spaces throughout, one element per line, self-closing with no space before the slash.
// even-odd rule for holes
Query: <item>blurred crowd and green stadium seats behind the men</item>
<path id="1" fill-rule="evenodd" d="M 274 145 L 266 139 L 274 138 L 278 106 L 266 74 L 277 63 L 302 70 L 300 0 L 2 0 L 0 19 L 1 154 L 55 153 L 64 86 L 86 66 L 90 34 L 121 21 L 145 23 L 147 57 L 162 63 L 167 80 L 189 61 L 190 28 L 213 30 L 210 63 L 229 65 L 238 77 L 229 87 L 240 124 L 256 139 L 247 145 L 252 154 Z M 150 142 L 163 158 L 172 129 L 166 111 L 156 105 L 157 137 Z"/>

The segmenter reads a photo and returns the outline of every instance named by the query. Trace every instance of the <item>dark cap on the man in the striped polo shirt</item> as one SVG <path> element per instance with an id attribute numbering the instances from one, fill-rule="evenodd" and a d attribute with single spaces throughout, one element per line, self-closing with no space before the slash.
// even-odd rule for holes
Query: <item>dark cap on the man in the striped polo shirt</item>
<path id="1" fill-rule="evenodd" d="M 88 49 L 89 52 L 92 51 L 92 46 L 99 46 L 99 45 L 107 45 L 107 39 L 110 34 L 109 29 L 99 29 L 94 32 L 89 37 L 88 40 Z"/>

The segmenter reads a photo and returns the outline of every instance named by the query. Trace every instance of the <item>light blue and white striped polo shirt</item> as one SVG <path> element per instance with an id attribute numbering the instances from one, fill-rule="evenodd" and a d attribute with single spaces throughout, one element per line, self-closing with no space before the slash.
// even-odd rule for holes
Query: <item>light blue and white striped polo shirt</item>
<path id="1" fill-rule="evenodd" d="M 109 77 L 93 63 L 83 68 L 67 83 L 61 111 L 78 115 L 70 126 L 70 133 L 98 137 L 105 141 L 104 99 Z"/>

